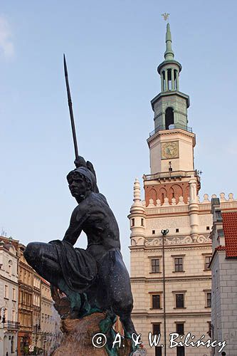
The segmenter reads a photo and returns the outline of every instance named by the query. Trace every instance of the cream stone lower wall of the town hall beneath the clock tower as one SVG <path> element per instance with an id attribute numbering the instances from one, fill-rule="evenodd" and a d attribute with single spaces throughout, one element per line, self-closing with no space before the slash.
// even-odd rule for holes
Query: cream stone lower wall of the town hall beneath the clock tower
<path id="1" fill-rule="evenodd" d="M 237 201 L 232 195 L 228 199 L 223 194 L 221 197 L 222 209 L 235 209 Z M 164 239 L 167 355 L 177 355 L 176 347 L 169 349 L 168 346 L 169 334 L 176 332 L 178 322 L 184 323 L 185 335 L 191 333 L 196 336 L 194 341 L 202 335 L 204 335 L 203 340 L 210 338 L 211 305 L 208 305 L 207 298 L 208 295 L 209 298 L 211 296 L 211 271 L 206 269 L 206 261 L 209 261 L 212 255 L 211 202 L 207 194 L 204 195 L 203 201 L 196 198 L 196 234 L 191 234 L 190 204 L 189 199 L 189 204 L 172 205 L 167 202 L 162 206 L 153 204 L 146 206 L 144 202 L 135 197 L 135 203 L 131 208 L 129 216 L 132 231 L 130 275 L 134 298 L 132 320 L 137 333 L 142 334 L 147 355 L 155 355 L 154 347 L 149 347 L 148 343 L 148 334 L 152 332 L 155 323 L 160 323 L 160 343 L 164 344 L 162 229 L 169 229 L 169 234 Z M 178 232 L 176 232 L 177 229 L 179 229 Z M 174 258 L 179 257 L 182 258 L 184 271 L 176 272 Z M 152 259 L 159 259 L 159 272 L 157 273 L 152 273 Z M 176 308 L 177 292 L 184 294 L 184 308 Z M 152 308 L 153 294 L 160 294 L 160 309 Z M 186 347 L 185 352 L 185 355 L 209 356 L 211 347 Z"/>

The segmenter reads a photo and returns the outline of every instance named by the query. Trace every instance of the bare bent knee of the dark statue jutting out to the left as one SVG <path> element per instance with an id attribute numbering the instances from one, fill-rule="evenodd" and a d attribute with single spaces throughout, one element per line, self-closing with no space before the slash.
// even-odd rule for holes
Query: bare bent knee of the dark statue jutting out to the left
<path id="1" fill-rule="evenodd" d="M 58 281 L 63 277 L 58 255 L 53 244 L 31 242 L 23 253 L 28 264 L 46 281 L 58 286 Z"/>

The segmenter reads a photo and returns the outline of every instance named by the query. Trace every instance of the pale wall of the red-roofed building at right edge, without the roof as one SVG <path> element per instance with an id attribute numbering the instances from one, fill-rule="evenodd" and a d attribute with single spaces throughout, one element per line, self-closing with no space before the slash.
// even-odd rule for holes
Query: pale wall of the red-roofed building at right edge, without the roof
<path id="1" fill-rule="evenodd" d="M 211 233 L 214 256 L 211 261 L 212 275 L 212 338 L 226 341 L 226 355 L 237 355 L 237 258 L 226 258 L 223 224 L 220 206 L 214 209 L 214 227 Z M 212 355 L 218 355 L 218 347 Z"/>

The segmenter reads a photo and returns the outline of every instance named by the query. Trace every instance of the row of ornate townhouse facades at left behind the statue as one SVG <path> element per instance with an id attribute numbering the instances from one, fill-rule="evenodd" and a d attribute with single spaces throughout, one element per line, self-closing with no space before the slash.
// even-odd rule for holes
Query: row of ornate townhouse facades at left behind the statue
<path id="1" fill-rule="evenodd" d="M 0 236 L 0 355 L 50 352 L 60 342 L 60 318 L 51 289 L 23 256 L 25 246 Z M 1 327 L 2 325 L 2 327 Z"/>

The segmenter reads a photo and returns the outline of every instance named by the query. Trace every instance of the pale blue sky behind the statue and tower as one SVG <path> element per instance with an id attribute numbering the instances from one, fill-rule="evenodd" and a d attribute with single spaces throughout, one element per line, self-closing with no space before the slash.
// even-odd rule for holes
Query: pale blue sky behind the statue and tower
<path id="1" fill-rule="evenodd" d="M 135 177 L 142 183 L 149 173 L 164 12 L 191 101 L 200 195 L 236 197 L 236 11 L 236 1 L 217 0 L 1 1 L 0 230 L 27 244 L 61 239 L 68 227 L 75 201 L 65 180 L 74 159 L 65 52 L 79 151 L 95 165 L 129 266 L 127 214 Z"/>

